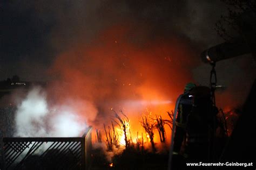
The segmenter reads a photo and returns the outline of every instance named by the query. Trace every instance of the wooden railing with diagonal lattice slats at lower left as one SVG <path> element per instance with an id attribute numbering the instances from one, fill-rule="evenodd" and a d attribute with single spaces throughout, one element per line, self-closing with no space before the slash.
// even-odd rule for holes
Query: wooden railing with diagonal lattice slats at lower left
<path id="1" fill-rule="evenodd" d="M 82 137 L 3 138 L 1 169 L 89 169 L 91 126 Z"/>

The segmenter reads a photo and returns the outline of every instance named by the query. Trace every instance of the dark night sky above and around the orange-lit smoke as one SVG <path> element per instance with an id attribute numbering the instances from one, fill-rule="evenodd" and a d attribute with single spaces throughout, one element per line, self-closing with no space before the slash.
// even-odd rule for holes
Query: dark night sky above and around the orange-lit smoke
<path id="1" fill-rule="evenodd" d="M 212 0 L 1 1 L 0 77 L 17 74 L 22 80 L 50 80 L 46 72 L 59 53 L 80 39 L 90 42 L 100 30 L 123 20 L 145 23 L 151 33 L 147 38 L 175 35 L 203 51 L 223 42 L 214 24 L 225 13 L 224 4 Z M 194 80 L 208 85 L 210 69 L 199 63 L 191 70 Z M 226 86 L 242 82 L 239 86 L 246 90 L 232 85 L 232 91 L 245 96 L 255 65 L 250 56 L 242 56 L 221 61 L 217 71 Z"/>

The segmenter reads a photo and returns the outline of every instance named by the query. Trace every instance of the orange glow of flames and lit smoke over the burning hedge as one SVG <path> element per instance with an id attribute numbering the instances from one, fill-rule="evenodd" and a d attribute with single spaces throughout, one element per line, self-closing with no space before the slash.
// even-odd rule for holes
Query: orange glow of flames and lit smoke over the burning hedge
<path id="1" fill-rule="evenodd" d="M 91 42 L 72 44 L 49 70 L 57 79 L 49 89 L 53 102 L 72 101 L 87 124 L 102 130 L 103 123 L 111 124 L 111 108 L 122 110 L 130 119 L 132 140 L 136 141 L 137 133 L 139 138 L 143 133 L 146 140 L 142 116 L 169 119 L 166 111 L 174 109 L 184 84 L 192 80 L 196 53 L 186 39 L 149 39 L 145 37 L 152 35 L 145 30 L 144 25 L 119 24 L 100 32 Z M 169 126 L 165 130 L 170 140 Z M 159 143 L 157 129 L 153 132 Z M 104 138 L 104 132 L 102 135 Z M 123 134 L 119 140 L 123 143 Z"/>

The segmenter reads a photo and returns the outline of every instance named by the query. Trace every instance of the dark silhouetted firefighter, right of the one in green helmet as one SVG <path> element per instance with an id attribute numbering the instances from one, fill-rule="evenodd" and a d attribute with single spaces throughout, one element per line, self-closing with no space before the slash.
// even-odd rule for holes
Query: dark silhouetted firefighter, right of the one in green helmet
<path id="1" fill-rule="evenodd" d="M 188 161 L 211 160 L 216 149 L 213 145 L 218 109 L 211 101 L 210 88 L 197 86 L 190 90 L 190 95 L 193 106 L 186 120 L 185 149 Z"/>

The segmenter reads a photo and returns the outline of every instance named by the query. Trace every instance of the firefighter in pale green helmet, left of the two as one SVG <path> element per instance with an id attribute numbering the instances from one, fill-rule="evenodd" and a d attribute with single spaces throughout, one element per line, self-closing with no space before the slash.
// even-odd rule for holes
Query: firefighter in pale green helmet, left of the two
<path id="1" fill-rule="evenodd" d="M 180 154 L 181 145 L 186 140 L 186 124 L 187 117 L 191 112 L 193 104 L 193 96 L 190 91 L 196 87 L 196 84 L 190 82 L 187 83 L 184 88 L 184 94 L 180 98 L 178 104 L 178 115 L 176 119 L 176 131 L 174 133 L 174 145 L 173 145 L 173 155 Z M 186 154 L 183 154 L 186 157 Z"/>

